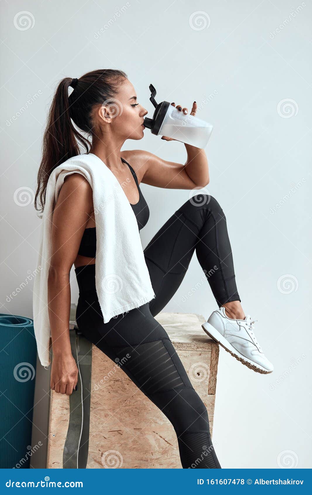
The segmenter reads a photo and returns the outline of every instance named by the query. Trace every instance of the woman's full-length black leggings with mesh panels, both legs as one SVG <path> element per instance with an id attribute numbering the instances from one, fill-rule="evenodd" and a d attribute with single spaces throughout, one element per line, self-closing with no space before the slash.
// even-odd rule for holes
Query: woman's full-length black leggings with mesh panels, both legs
<path id="1" fill-rule="evenodd" d="M 221 468 L 212 444 L 208 413 L 166 332 L 155 320 L 177 291 L 192 254 L 219 306 L 239 300 L 226 220 L 215 198 L 187 200 L 144 249 L 156 298 L 103 323 L 95 290 L 95 265 L 75 269 L 76 320 L 85 337 L 121 368 L 161 409 L 178 437 L 182 468 Z"/>

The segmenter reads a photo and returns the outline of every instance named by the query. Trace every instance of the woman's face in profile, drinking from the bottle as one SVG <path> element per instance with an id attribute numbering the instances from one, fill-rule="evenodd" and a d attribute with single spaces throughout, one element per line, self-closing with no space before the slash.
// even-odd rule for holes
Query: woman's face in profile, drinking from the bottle
<path id="1" fill-rule="evenodd" d="M 110 114 L 109 128 L 117 140 L 142 139 L 143 117 L 147 110 L 139 103 L 132 83 L 126 79 L 113 97 L 114 104 L 106 105 Z"/>

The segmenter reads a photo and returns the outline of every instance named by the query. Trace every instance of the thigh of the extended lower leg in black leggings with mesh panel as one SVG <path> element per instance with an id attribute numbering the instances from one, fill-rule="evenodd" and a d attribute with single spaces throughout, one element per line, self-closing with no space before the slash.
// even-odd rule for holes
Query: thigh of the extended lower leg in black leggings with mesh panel
<path id="1" fill-rule="evenodd" d="M 148 303 L 104 323 L 98 299 L 79 296 L 76 321 L 83 335 L 157 405 L 155 394 L 160 390 L 192 388 L 176 349 Z"/>

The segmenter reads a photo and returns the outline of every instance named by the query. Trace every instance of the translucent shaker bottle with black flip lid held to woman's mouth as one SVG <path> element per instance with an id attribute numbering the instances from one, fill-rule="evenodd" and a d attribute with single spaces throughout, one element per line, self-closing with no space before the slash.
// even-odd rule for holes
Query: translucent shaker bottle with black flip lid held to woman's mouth
<path id="1" fill-rule="evenodd" d="M 151 130 L 156 136 L 168 136 L 181 143 L 186 143 L 196 148 L 205 148 L 212 133 L 213 125 L 193 115 L 185 115 L 169 103 L 162 101 L 156 103 L 156 90 L 149 85 L 151 92 L 150 101 L 155 107 L 153 118 L 144 118 L 144 127 Z"/>

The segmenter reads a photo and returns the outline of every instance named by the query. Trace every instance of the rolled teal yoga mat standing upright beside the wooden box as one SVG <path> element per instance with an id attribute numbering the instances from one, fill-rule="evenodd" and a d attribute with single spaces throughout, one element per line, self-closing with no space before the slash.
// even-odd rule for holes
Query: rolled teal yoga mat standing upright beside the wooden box
<path id="1" fill-rule="evenodd" d="M 0 313 L 0 468 L 29 468 L 37 346 L 33 320 Z M 44 438 L 43 438 L 44 440 Z"/>

